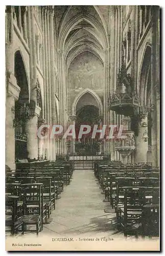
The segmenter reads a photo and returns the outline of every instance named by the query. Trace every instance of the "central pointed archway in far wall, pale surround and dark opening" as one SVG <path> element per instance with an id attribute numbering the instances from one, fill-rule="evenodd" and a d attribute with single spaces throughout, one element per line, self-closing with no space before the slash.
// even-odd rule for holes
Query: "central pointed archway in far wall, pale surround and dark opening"
<path id="1" fill-rule="evenodd" d="M 76 117 L 76 141 L 75 152 L 79 155 L 96 155 L 100 153 L 100 134 L 97 133 L 95 139 L 91 138 L 93 126 L 98 125 L 100 129 L 101 117 L 103 115 L 103 105 L 99 96 L 90 89 L 85 89 L 77 95 L 72 106 L 72 114 Z M 90 125 L 90 133 L 82 135 L 78 139 L 80 126 Z"/>

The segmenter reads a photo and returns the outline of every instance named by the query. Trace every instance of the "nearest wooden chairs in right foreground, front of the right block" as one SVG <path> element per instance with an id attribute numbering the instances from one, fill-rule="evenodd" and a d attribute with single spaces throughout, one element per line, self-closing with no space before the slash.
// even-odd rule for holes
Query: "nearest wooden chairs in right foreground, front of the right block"
<path id="1" fill-rule="evenodd" d="M 123 189 L 123 200 L 115 211 L 117 227 L 125 237 L 128 234 L 135 234 L 136 238 L 138 234 L 142 237 L 159 236 L 159 188 L 148 192 L 146 188 Z"/>

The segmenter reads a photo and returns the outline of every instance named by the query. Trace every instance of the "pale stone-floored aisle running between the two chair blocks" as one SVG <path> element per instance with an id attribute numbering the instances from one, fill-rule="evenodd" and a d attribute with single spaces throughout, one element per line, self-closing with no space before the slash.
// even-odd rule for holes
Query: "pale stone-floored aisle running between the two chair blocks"
<path id="1" fill-rule="evenodd" d="M 111 224 L 115 215 L 105 214 L 107 203 L 101 191 L 92 170 L 75 170 L 71 184 L 64 187 L 61 199 L 56 201 L 51 223 L 45 224 L 41 233 L 62 237 L 115 234 Z"/>

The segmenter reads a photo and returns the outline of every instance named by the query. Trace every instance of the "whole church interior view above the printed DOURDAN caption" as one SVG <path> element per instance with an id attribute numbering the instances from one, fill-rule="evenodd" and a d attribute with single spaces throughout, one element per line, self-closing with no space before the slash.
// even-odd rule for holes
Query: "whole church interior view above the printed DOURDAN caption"
<path id="1" fill-rule="evenodd" d="M 5 15 L 6 233 L 158 238 L 159 7 Z"/>

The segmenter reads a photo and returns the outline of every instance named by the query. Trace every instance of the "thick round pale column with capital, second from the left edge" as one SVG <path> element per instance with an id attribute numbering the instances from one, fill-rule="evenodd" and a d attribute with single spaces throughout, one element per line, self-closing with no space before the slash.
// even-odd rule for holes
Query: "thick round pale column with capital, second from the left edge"
<path id="1" fill-rule="evenodd" d="M 31 108 L 31 118 L 27 121 L 26 124 L 26 133 L 27 133 L 27 152 L 28 158 L 34 159 L 38 158 L 38 116 L 41 111 L 39 106 Z"/>

